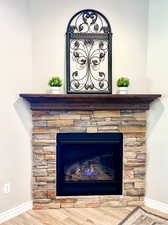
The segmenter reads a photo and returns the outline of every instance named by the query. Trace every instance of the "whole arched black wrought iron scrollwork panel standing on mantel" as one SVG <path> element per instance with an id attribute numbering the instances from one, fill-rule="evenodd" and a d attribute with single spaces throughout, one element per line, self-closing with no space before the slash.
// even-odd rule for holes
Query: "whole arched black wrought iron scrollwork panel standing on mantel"
<path id="1" fill-rule="evenodd" d="M 92 9 L 76 13 L 66 32 L 67 93 L 112 93 L 112 33 Z"/>

